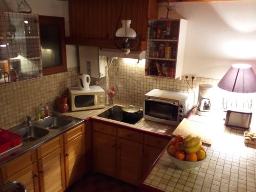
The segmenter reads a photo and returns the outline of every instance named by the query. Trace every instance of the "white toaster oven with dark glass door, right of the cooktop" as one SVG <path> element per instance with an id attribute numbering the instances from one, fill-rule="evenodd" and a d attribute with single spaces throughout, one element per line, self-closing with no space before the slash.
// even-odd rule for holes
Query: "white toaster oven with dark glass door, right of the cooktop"
<path id="1" fill-rule="evenodd" d="M 189 95 L 154 89 L 144 95 L 143 117 L 148 120 L 178 125 L 193 107 Z"/>

